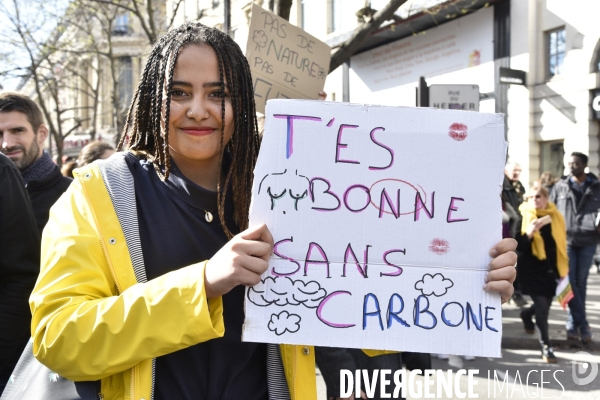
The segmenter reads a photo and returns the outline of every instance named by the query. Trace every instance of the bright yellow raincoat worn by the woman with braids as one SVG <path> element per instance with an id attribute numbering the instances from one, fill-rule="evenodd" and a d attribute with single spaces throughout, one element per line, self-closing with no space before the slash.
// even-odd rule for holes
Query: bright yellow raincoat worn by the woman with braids
<path id="1" fill-rule="evenodd" d="M 101 379 L 104 400 L 149 400 L 153 358 L 223 336 L 221 298 L 206 299 L 205 262 L 137 283 L 98 166 L 75 174 L 43 235 L 34 355 L 65 378 Z M 291 398 L 316 399 L 313 347 L 280 349 Z"/>

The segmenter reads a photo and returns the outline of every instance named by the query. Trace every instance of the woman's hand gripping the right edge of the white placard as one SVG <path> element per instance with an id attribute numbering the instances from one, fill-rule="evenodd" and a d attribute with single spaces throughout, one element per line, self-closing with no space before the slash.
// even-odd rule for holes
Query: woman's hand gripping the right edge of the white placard
<path id="1" fill-rule="evenodd" d="M 502 239 L 490 250 L 493 260 L 488 267 L 485 278 L 484 290 L 488 292 L 499 292 L 502 304 L 511 298 L 514 288 L 513 282 L 517 277 L 517 241 L 515 239 Z"/>

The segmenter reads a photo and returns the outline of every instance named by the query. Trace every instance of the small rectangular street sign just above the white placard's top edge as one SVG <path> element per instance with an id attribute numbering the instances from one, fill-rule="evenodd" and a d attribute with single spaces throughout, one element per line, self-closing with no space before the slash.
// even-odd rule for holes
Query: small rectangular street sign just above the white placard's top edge
<path id="1" fill-rule="evenodd" d="M 479 111 L 479 85 L 430 85 L 429 107 Z"/>

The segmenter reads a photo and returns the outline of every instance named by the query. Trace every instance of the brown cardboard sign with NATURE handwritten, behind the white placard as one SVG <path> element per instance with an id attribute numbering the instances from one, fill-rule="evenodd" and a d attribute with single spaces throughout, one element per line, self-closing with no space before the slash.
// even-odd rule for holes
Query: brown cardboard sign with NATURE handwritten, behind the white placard
<path id="1" fill-rule="evenodd" d="M 246 58 L 256 111 L 264 114 L 270 99 L 317 99 L 329 72 L 331 48 L 253 4 Z"/>

